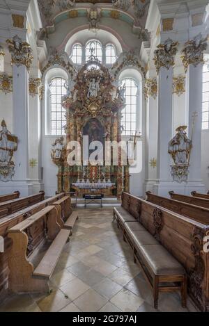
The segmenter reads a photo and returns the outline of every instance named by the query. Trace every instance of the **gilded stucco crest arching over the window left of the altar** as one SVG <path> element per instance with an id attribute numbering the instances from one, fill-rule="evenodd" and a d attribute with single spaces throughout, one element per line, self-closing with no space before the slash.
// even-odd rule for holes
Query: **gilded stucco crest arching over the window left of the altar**
<path id="1" fill-rule="evenodd" d="M 42 74 L 45 74 L 45 72 L 51 67 L 63 67 L 68 74 L 70 74 L 71 78 L 76 74 L 75 67 L 70 63 L 68 54 L 65 52 L 59 52 L 56 49 L 52 51 L 52 54 L 47 60 L 47 64 L 42 67 Z"/>

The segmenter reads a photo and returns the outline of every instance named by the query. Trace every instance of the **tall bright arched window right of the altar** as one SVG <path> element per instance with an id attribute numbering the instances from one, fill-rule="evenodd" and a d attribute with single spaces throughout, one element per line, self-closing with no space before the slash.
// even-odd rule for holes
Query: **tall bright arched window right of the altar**
<path id="1" fill-rule="evenodd" d="M 138 108 L 138 87 L 132 78 L 122 80 L 121 86 L 125 85 L 125 108 L 122 111 L 123 135 L 134 135 L 137 131 L 137 108 Z"/>

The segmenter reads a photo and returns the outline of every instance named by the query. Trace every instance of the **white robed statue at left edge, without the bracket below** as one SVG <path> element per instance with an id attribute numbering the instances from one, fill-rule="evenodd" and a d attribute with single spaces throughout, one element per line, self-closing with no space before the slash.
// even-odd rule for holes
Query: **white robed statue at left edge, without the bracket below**
<path id="1" fill-rule="evenodd" d="M 10 163 L 13 158 L 13 152 L 17 150 L 17 137 L 13 136 L 6 127 L 6 122 L 1 122 L 0 131 L 0 162 Z"/>

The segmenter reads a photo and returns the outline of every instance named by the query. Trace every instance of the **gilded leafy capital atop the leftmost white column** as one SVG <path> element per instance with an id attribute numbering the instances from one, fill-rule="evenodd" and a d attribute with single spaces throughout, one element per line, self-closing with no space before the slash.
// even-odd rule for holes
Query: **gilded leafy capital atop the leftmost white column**
<path id="1" fill-rule="evenodd" d="M 29 43 L 22 42 L 17 35 L 12 40 L 7 40 L 6 42 L 12 55 L 12 63 L 17 66 L 25 65 L 29 70 L 33 61 L 32 49 Z"/>

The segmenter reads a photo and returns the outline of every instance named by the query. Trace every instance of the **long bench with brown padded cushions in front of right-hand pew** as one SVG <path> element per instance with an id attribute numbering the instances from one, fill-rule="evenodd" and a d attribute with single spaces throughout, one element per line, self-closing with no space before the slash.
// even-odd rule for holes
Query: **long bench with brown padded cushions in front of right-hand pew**
<path id="1" fill-rule="evenodd" d="M 144 277 L 152 288 L 155 309 L 158 307 L 159 293 L 171 291 L 180 291 L 182 305 L 186 307 L 187 276 L 185 268 L 160 245 L 136 218 L 130 219 L 130 213 L 123 207 L 114 208 L 114 220 L 123 230 L 124 240 L 127 240 L 133 249 L 134 262 L 139 263 Z"/>

